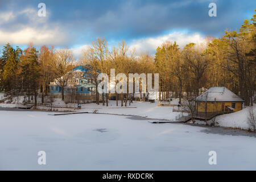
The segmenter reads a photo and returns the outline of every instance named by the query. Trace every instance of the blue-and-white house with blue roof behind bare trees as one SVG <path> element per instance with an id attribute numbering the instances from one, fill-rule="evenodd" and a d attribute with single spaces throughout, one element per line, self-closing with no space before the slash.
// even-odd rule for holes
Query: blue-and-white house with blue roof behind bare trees
<path id="1" fill-rule="evenodd" d="M 51 93 L 61 93 L 61 87 L 57 84 L 57 79 L 49 84 Z M 79 66 L 72 70 L 72 77 L 68 79 L 64 93 L 76 92 L 81 94 L 96 93 L 96 84 L 85 66 Z"/>

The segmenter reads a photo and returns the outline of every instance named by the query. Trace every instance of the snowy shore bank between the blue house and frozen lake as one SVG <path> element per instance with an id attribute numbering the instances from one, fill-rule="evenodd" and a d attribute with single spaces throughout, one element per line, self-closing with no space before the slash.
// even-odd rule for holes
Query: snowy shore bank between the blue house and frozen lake
<path id="1" fill-rule="evenodd" d="M 38 99 L 40 103 L 40 99 Z M 15 107 L 15 98 L 12 102 L 13 104 L 0 104 L 0 107 Z M 178 100 L 174 99 L 171 102 L 172 104 L 177 104 Z M 121 107 L 121 101 L 118 101 L 118 106 L 116 106 L 116 101 L 109 101 L 109 106 L 102 106 L 102 104 L 97 105 L 95 103 L 92 104 L 82 104 L 81 110 L 74 110 L 74 107 L 77 108 L 77 104 L 65 104 L 64 101 L 61 99 L 56 99 L 53 103 L 55 106 L 65 106 L 69 108 L 57 108 L 55 107 L 54 110 L 56 111 L 89 111 L 93 112 L 95 109 L 98 110 L 99 113 L 109 113 L 109 114 L 125 114 L 125 115 L 137 115 L 141 117 L 147 118 L 154 118 L 154 119 L 167 119 L 167 120 L 175 120 L 175 116 L 180 114 L 177 112 L 172 112 L 172 106 L 158 106 L 158 101 L 155 103 L 150 102 L 141 102 L 141 101 L 133 101 L 129 106 L 129 101 L 127 102 L 127 107 L 123 104 Z M 177 106 L 174 107 L 177 109 Z M 44 109 L 48 110 L 50 107 L 46 106 L 37 106 L 37 109 Z"/>

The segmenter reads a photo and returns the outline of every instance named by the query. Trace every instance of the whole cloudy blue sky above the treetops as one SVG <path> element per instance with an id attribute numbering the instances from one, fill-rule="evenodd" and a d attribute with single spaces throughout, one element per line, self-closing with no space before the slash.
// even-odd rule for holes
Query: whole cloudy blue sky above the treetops
<path id="1" fill-rule="evenodd" d="M 38 4 L 46 4 L 46 17 L 38 16 Z M 217 17 L 208 15 L 209 3 L 217 5 Z M 237 0 L 0 0 L 0 48 L 10 42 L 26 48 L 44 44 L 81 49 L 105 37 L 110 46 L 126 40 L 138 52 L 154 53 L 164 41 L 200 43 L 205 36 L 220 37 L 226 28 L 238 30 L 251 18 L 256 1 Z"/>

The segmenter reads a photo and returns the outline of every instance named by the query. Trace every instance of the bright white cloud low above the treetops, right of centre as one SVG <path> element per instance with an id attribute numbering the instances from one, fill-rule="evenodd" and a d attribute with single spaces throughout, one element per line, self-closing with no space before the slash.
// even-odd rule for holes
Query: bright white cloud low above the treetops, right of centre
<path id="1" fill-rule="evenodd" d="M 184 47 L 186 44 L 191 42 L 196 44 L 204 43 L 205 39 L 199 33 L 187 34 L 182 32 L 173 32 L 171 34 L 157 36 L 155 38 L 136 39 L 131 41 L 129 46 L 131 49 L 136 48 L 137 53 L 149 51 L 150 54 L 154 54 L 156 48 L 167 41 L 172 43 L 176 41 L 179 47 Z"/>

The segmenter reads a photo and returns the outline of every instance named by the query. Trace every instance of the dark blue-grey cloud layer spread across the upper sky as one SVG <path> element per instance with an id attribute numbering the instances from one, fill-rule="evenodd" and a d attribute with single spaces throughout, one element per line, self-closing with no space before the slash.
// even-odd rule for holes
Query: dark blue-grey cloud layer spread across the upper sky
<path id="1" fill-rule="evenodd" d="M 49 12 L 47 25 L 60 26 L 72 36 L 70 44 L 90 42 L 97 36 L 130 40 L 183 28 L 202 35 L 221 36 L 226 28 L 238 29 L 243 19 L 253 15 L 256 7 L 254 0 L 0 1 L 0 12 L 11 10 L 17 13 L 26 8 L 37 10 L 40 2 L 46 3 Z M 217 4 L 217 17 L 208 16 L 210 2 Z M 45 26 L 46 22 L 31 21 L 31 16 L 19 15 L 0 24 L 0 29 L 16 31 L 26 26 Z"/>

